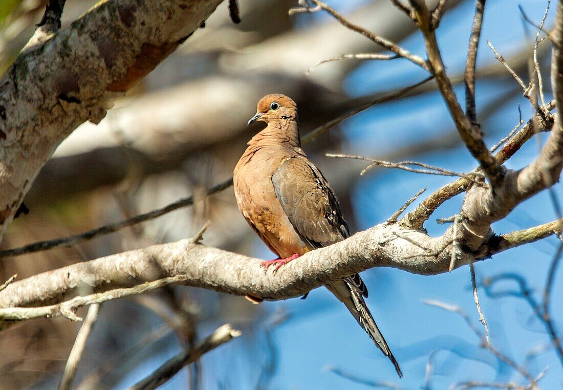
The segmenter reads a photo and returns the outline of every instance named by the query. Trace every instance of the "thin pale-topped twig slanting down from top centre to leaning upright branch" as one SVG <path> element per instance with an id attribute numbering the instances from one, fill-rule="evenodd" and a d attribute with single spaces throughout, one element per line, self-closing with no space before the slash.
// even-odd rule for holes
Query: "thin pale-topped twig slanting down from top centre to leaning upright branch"
<path id="1" fill-rule="evenodd" d="M 309 1 L 311 3 L 314 3 L 316 7 L 311 7 Z M 347 29 L 350 29 L 358 34 L 364 35 L 364 37 L 370 39 L 370 41 L 373 41 L 377 43 L 379 46 L 394 52 L 396 55 L 403 57 L 404 59 L 407 59 L 410 62 L 413 62 L 413 64 L 420 66 L 422 69 L 430 70 L 430 68 L 428 68 L 428 64 L 426 63 L 426 61 L 423 60 L 421 57 L 405 50 L 400 46 L 397 46 L 397 44 L 388 41 L 388 39 L 379 37 L 378 35 L 369 32 L 363 27 L 350 23 L 350 21 L 346 20 L 345 17 L 338 14 L 338 12 L 336 12 L 333 8 L 331 8 L 327 4 L 319 0 L 300 0 L 300 4 L 302 5 L 301 10 L 296 11 L 295 8 L 293 10 L 289 10 L 290 15 L 294 12 L 317 12 L 320 10 L 327 11 L 330 14 L 330 16 L 334 17 L 334 19 L 336 19 L 338 23 L 345 26 Z"/>

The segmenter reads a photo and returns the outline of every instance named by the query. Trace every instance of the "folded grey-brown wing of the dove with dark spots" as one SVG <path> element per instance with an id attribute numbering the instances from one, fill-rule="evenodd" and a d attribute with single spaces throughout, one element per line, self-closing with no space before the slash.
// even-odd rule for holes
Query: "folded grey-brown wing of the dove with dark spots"
<path id="1" fill-rule="evenodd" d="M 309 160 L 285 160 L 272 176 L 276 197 L 303 241 L 320 248 L 349 234 L 338 200 L 327 180 Z"/>

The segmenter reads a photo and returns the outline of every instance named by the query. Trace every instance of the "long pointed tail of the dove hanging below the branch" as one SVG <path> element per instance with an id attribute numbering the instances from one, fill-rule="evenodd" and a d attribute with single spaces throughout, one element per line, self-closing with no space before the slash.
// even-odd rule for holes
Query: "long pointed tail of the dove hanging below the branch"
<path id="1" fill-rule="evenodd" d="M 399 367 L 399 363 L 395 360 L 395 356 L 391 353 L 391 349 L 387 345 L 383 335 L 377 328 L 376 321 L 370 313 L 368 305 L 364 301 L 362 293 L 365 290 L 363 281 L 359 275 L 352 275 L 327 285 L 331 293 L 346 305 L 352 316 L 358 321 L 358 324 L 366 331 L 376 346 L 381 349 L 383 355 L 395 365 L 395 370 L 399 374 L 399 378 L 403 378 L 403 373 Z M 367 296 L 367 290 L 364 293 Z"/>

